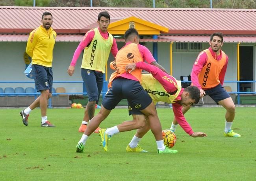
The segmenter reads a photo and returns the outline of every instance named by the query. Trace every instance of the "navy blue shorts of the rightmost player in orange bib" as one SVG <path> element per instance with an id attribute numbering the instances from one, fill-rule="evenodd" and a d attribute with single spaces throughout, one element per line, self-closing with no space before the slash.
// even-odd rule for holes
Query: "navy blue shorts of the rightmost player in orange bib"
<path id="1" fill-rule="evenodd" d="M 211 89 L 204 90 L 204 92 L 206 93 L 206 95 L 210 96 L 217 104 L 221 100 L 230 98 L 230 95 L 228 94 L 228 92 L 226 92 L 221 84 Z"/>

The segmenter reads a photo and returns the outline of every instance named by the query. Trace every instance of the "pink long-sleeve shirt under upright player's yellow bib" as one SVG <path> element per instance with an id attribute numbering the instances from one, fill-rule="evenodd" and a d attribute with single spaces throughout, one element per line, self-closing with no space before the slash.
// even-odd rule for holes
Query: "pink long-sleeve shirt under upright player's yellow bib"
<path id="1" fill-rule="evenodd" d="M 100 28 L 98 28 L 98 30 L 100 31 L 100 35 L 104 39 L 108 39 L 108 32 L 103 32 L 103 31 L 100 30 Z M 95 35 L 95 33 L 94 33 L 93 29 L 88 31 L 84 35 L 83 40 L 80 42 L 80 44 L 76 48 L 76 51 L 74 52 L 72 61 L 70 63 L 71 66 L 76 66 L 76 61 L 78 60 L 80 54 L 82 53 L 83 49 L 85 49 L 86 46 L 89 46 L 89 44 L 93 40 L 94 35 Z M 111 53 L 115 57 L 117 55 L 117 52 L 118 52 L 117 41 L 115 40 L 115 38 L 113 38 L 113 44 L 112 44 L 112 47 L 111 47 Z"/>

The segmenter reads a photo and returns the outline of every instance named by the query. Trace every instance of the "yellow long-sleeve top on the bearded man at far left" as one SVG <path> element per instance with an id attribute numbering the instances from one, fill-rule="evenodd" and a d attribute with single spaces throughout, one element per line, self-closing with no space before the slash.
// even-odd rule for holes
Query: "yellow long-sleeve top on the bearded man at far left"
<path id="1" fill-rule="evenodd" d="M 52 53 L 56 35 L 52 28 L 46 30 L 42 25 L 30 33 L 26 53 L 32 57 L 32 65 L 52 67 Z"/>

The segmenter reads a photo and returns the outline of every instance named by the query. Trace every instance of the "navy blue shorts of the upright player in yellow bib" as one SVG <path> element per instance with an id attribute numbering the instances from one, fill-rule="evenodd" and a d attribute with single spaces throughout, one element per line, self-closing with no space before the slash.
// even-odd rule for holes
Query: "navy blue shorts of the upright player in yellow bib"
<path id="1" fill-rule="evenodd" d="M 87 90 L 88 100 L 98 103 L 103 86 L 103 73 L 81 68 L 81 76 Z"/>

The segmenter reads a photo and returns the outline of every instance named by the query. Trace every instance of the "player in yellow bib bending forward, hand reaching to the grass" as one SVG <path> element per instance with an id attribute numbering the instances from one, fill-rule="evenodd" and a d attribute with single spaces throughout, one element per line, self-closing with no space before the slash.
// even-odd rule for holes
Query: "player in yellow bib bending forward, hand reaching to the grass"
<path id="1" fill-rule="evenodd" d="M 148 92 L 155 105 L 159 101 L 171 103 L 176 120 L 188 135 L 191 137 L 207 136 L 206 133 L 194 132 L 182 114 L 182 106 L 191 106 L 198 103 L 200 100 L 200 90 L 197 87 L 189 86 L 184 89 L 181 87 L 181 81 L 176 80 L 173 76 L 163 72 L 158 67 L 144 62 L 127 65 L 126 71 L 132 72 L 135 68 L 143 69 L 151 73 L 141 76 L 141 85 Z M 129 107 L 129 114 L 138 115 L 141 113 Z M 138 145 L 138 142 L 150 128 L 149 122 L 146 121 L 145 126 L 137 130 L 137 133 L 126 147 L 126 151 L 147 152 Z"/>

